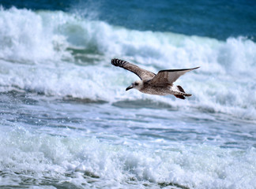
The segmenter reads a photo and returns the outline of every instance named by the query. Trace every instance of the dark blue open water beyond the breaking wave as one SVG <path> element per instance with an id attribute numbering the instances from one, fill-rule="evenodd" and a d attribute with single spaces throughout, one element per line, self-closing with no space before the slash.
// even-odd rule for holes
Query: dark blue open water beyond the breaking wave
<path id="1" fill-rule="evenodd" d="M 256 40 L 256 2 L 221 0 L 160 1 L 0 1 L 3 7 L 79 12 L 126 28 L 172 31 L 216 39 L 244 36 Z"/>

